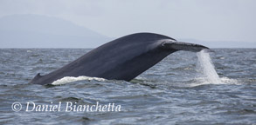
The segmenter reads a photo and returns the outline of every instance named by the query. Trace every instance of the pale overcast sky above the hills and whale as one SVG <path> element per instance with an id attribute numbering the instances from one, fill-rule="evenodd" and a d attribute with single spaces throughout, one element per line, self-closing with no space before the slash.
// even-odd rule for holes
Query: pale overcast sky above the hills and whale
<path id="1" fill-rule="evenodd" d="M 174 38 L 256 43 L 256 0 L 0 0 L 0 17 L 60 17 L 109 37 L 155 32 Z"/>

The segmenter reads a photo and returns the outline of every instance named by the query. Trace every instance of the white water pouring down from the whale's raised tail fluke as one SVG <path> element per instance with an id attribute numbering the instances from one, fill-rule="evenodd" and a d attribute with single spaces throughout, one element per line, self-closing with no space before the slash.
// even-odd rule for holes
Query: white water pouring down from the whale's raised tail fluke
<path id="1" fill-rule="evenodd" d="M 207 83 L 222 83 L 216 70 L 214 69 L 214 65 L 211 62 L 211 57 L 208 52 L 205 50 L 201 50 L 197 52 L 198 57 L 198 67 L 200 72 L 203 73 L 204 82 Z"/>

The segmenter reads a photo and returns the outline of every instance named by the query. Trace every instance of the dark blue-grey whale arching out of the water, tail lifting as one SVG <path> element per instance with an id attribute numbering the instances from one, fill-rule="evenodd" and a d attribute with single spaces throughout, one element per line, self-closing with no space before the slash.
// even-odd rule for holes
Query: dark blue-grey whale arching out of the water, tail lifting
<path id="1" fill-rule="evenodd" d="M 198 52 L 202 49 L 208 48 L 199 44 L 177 42 L 169 36 L 136 33 L 105 43 L 45 76 L 38 73 L 31 83 L 51 84 L 65 76 L 130 81 L 177 50 Z"/>

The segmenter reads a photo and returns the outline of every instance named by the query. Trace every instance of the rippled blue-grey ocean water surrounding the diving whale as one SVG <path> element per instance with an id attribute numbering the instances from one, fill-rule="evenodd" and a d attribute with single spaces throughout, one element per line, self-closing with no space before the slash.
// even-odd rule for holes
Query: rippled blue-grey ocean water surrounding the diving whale
<path id="1" fill-rule="evenodd" d="M 28 83 L 89 50 L 0 49 L 0 124 L 256 124 L 256 49 L 178 51 L 131 82 L 80 76 Z M 66 110 L 71 103 L 120 109 Z"/>

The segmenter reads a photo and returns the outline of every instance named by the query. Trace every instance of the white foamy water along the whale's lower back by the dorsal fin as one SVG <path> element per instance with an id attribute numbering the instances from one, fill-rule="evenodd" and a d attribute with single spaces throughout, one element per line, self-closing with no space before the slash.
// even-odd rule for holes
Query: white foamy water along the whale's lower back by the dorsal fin
<path id="1" fill-rule="evenodd" d="M 89 76 L 78 76 L 78 77 L 66 76 L 66 77 L 63 77 L 59 80 L 52 82 L 52 85 L 61 85 L 61 84 L 66 84 L 68 82 L 76 82 L 76 81 L 83 81 L 83 80 L 87 80 L 87 81 L 95 80 L 95 81 L 103 82 L 106 79 L 99 78 L 99 77 L 89 77 Z"/>

